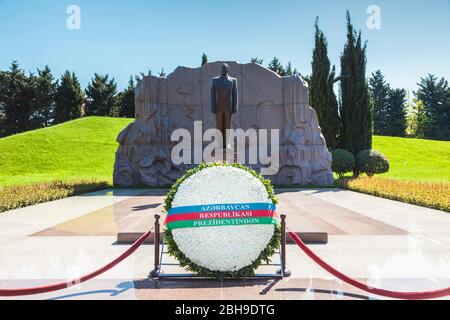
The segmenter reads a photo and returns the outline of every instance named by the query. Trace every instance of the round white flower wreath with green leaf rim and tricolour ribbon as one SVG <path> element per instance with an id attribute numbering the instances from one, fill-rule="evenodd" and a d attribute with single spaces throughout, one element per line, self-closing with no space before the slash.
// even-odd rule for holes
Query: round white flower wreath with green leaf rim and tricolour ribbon
<path id="1" fill-rule="evenodd" d="M 201 276 L 251 276 L 279 247 L 275 204 L 270 182 L 255 171 L 202 164 L 167 194 L 168 252 Z"/>

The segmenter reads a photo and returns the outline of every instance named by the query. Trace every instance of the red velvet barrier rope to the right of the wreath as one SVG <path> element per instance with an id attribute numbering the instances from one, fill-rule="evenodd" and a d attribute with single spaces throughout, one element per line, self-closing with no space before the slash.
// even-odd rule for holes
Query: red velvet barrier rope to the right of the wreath
<path id="1" fill-rule="evenodd" d="M 341 279 L 342 281 L 357 287 L 361 290 L 367 291 L 369 293 L 373 293 L 380 296 L 385 296 L 389 298 L 396 299 L 409 299 L 409 300 L 419 300 L 419 299 L 435 299 L 440 297 L 446 297 L 450 295 L 450 287 L 433 290 L 433 291 L 424 291 L 424 292 L 401 292 L 401 291 L 390 291 L 385 289 L 378 289 L 370 287 L 362 282 L 359 282 L 349 276 L 341 273 L 340 271 L 333 268 L 331 265 L 323 261 L 319 256 L 317 256 L 314 252 L 309 249 L 305 243 L 297 236 L 294 232 L 289 232 L 292 240 L 303 250 L 312 260 L 314 260 L 319 266 L 323 269 L 331 273 L 336 278 Z"/>

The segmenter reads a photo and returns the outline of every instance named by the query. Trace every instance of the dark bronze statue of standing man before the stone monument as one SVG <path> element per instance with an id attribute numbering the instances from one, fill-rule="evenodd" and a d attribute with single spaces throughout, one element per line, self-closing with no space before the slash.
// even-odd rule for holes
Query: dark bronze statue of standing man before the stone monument
<path id="1" fill-rule="evenodd" d="M 227 148 L 227 130 L 231 129 L 231 117 L 238 111 L 237 80 L 228 76 L 230 67 L 222 65 L 222 75 L 212 79 L 211 111 L 216 115 L 216 128 L 222 132 L 223 148 Z"/>

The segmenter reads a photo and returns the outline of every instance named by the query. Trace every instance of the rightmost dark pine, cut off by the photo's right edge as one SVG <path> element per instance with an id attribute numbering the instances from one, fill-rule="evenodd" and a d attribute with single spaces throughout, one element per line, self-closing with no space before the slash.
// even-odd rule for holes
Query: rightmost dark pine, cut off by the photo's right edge
<path id="1" fill-rule="evenodd" d="M 447 80 L 429 74 L 420 78 L 416 98 L 423 101 L 426 114 L 424 137 L 437 140 L 450 139 L 449 86 Z"/>

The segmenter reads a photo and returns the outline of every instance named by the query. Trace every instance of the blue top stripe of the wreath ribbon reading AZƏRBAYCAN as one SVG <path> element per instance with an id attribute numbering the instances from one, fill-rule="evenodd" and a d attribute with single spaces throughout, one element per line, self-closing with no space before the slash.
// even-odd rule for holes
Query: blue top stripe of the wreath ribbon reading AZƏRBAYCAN
<path id="1" fill-rule="evenodd" d="M 220 211 L 239 211 L 239 210 L 275 210 L 273 203 L 236 203 L 236 204 L 206 204 L 201 206 L 175 207 L 169 210 L 171 214 L 183 214 L 193 212 L 220 212 Z"/>

